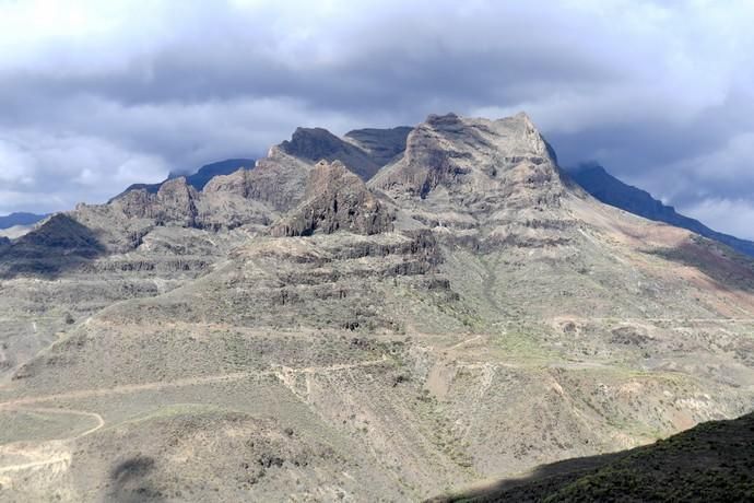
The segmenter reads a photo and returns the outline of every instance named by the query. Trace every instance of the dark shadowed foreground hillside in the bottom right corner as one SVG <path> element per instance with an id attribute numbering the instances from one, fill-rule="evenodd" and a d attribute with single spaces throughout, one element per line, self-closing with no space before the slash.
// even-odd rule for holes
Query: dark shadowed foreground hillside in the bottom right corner
<path id="1" fill-rule="evenodd" d="M 754 494 L 754 414 L 710 421 L 655 444 L 538 467 L 433 503 L 747 501 Z"/>

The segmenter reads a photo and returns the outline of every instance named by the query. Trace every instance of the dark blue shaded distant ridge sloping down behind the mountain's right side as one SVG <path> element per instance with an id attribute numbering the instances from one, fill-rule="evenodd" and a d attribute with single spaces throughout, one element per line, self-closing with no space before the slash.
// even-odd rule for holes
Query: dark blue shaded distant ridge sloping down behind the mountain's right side
<path id="1" fill-rule="evenodd" d="M 754 242 L 712 231 L 698 220 L 678 213 L 673 207 L 663 204 L 661 201 L 652 198 L 649 192 L 624 184 L 599 164 L 582 164 L 569 171 L 569 175 L 585 190 L 606 204 L 644 217 L 645 219 L 687 229 L 728 245 L 741 254 L 754 257 Z"/>

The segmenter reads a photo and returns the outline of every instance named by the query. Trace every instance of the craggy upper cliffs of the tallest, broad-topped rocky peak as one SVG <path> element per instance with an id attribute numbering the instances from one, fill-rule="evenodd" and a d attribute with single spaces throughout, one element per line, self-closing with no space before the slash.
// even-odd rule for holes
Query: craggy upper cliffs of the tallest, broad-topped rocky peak
<path id="1" fill-rule="evenodd" d="M 372 185 L 391 195 L 515 195 L 519 188 L 559 187 L 561 175 L 544 138 L 526 114 L 498 120 L 431 115 L 407 139 L 405 153 Z M 510 198 L 513 202 L 516 198 Z"/>

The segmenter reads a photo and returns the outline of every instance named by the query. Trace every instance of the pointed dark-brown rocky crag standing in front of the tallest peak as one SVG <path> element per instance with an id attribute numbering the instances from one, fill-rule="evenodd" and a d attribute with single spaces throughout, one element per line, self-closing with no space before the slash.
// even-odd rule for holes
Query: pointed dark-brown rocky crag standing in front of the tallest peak
<path id="1" fill-rule="evenodd" d="M 313 169 L 304 201 L 273 226 L 275 236 L 378 234 L 392 230 L 394 213 L 340 161 L 321 161 Z"/>

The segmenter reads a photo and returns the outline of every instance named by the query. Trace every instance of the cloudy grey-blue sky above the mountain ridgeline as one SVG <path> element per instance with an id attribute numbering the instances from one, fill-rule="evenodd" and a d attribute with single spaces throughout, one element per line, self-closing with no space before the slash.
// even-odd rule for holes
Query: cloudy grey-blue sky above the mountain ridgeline
<path id="1" fill-rule="evenodd" d="M 0 214 L 102 202 L 297 126 L 526 110 L 754 238 L 750 0 L 0 0 Z"/>

